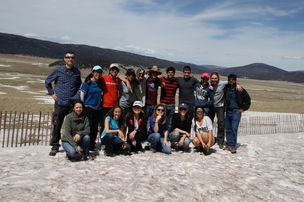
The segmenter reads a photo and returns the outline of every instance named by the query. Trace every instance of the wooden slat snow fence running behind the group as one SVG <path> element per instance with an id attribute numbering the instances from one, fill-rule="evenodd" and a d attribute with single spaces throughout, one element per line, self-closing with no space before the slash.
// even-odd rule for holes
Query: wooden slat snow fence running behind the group
<path id="1" fill-rule="evenodd" d="M 52 112 L 13 113 L 0 111 L 0 145 L 18 147 L 49 145 L 52 136 Z M 217 132 L 216 119 L 214 131 Z M 62 126 L 62 133 L 64 124 Z M 239 136 L 304 131 L 304 114 L 242 117 Z M 195 134 L 192 132 L 192 138 Z M 99 142 L 99 138 L 97 140 Z"/>

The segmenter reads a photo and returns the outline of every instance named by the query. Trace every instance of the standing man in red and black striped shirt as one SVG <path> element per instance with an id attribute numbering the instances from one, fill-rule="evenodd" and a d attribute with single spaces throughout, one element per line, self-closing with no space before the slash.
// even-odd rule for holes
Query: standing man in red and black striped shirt
<path id="1" fill-rule="evenodd" d="M 171 125 L 172 115 L 175 112 L 175 95 L 176 95 L 176 90 L 178 89 L 178 84 L 174 75 L 175 75 L 175 68 L 168 67 L 167 77 L 162 76 L 162 80 L 166 84 L 166 86 L 162 86 L 160 102 L 166 105 L 166 114 L 168 117 L 168 125 L 169 125 L 168 133 L 171 132 L 170 129 L 172 126 Z"/>

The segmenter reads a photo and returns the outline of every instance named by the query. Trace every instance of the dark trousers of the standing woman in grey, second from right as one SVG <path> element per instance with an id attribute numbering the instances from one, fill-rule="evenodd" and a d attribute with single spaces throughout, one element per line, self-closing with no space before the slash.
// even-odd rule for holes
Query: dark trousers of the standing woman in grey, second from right
<path id="1" fill-rule="evenodd" d="M 210 107 L 209 117 L 214 121 L 214 117 L 217 117 L 217 143 L 223 144 L 225 140 L 225 110 L 224 107 Z"/>

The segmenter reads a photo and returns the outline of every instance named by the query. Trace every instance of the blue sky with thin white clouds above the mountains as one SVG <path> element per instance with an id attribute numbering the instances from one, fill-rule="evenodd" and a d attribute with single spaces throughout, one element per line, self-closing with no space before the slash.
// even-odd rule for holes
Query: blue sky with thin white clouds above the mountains
<path id="1" fill-rule="evenodd" d="M 0 32 L 198 65 L 304 70 L 302 0 L 2 0 Z"/>

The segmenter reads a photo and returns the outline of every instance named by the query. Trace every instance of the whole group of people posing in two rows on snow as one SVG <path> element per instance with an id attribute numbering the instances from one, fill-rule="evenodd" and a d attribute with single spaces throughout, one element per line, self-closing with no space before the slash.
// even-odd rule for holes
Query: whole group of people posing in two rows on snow
<path id="1" fill-rule="evenodd" d="M 222 82 L 216 72 L 210 76 L 203 73 L 199 82 L 191 76 L 189 66 L 183 68 L 183 76 L 175 77 L 174 67 L 166 69 L 167 76 L 161 76 L 155 65 L 147 72 L 143 68 L 136 72 L 127 69 L 118 77 L 119 65 L 111 64 L 108 75 L 102 75 L 102 67 L 97 65 L 82 83 L 80 70 L 73 66 L 74 53 L 66 52 L 63 60 L 65 65 L 56 67 L 45 80 L 55 100 L 50 155 L 59 151 L 61 139 L 67 159 L 82 153 L 84 160 L 91 160 L 89 151 L 97 150 L 98 133 L 105 156 L 140 152 L 146 140 L 149 145 L 145 149 L 151 152 L 190 151 L 191 128 L 196 134 L 193 144 L 201 154 L 208 155 L 215 143 L 236 153 L 238 125 L 241 113 L 250 106 L 250 96 L 237 84 L 235 74 Z M 177 89 L 179 104 L 175 113 Z M 213 131 L 215 115 L 217 134 Z"/>

